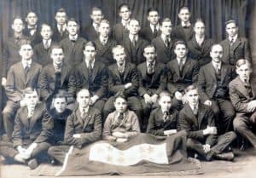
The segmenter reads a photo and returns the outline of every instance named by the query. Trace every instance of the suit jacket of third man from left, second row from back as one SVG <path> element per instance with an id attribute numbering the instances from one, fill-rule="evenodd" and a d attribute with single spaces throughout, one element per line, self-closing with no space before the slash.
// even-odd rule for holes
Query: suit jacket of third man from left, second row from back
<path id="1" fill-rule="evenodd" d="M 75 43 L 73 43 L 69 37 L 62 39 L 60 45 L 65 54 L 64 63 L 68 66 L 75 66 L 82 62 L 84 58 L 83 49 L 85 43 L 86 40 L 84 37 L 78 37 Z"/>

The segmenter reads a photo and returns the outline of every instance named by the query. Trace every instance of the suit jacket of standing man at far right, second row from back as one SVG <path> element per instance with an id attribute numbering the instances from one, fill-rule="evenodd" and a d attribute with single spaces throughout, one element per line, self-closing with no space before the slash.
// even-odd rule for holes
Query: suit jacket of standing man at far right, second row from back
<path id="1" fill-rule="evenodd" d="M 240 59 L 251 60 L 250 46 L 247 38 L 237 37 L 236 42 L 233 44 L 232 53 L 234 54 L 235 63 L 230 62 L 230 40 L 229 38 L 224 39 L 220 43 L 223 47 L 223 57 L 222 60 L 224 63 L 236 66 L 236 61 Z"/>

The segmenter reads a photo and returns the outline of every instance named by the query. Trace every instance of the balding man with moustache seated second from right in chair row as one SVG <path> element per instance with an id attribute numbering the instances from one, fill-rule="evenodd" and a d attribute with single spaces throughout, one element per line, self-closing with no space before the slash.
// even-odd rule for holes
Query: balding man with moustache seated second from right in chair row
<path id="1" fill-rule="evenodd" d="M 229 83 L 235 76 L 233 67 L 221 61 L 223 48 L 213 44 L 210 52 L 212 62 L 202 66 L 198 75 L 198 89 L 201 102 L 212 108 L 218 133 L 232 129 L 235 110 L 230 102 Z"/>

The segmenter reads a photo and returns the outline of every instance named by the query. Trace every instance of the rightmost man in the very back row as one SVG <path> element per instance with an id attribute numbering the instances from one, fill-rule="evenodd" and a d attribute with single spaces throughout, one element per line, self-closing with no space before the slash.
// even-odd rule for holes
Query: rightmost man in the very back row
<path id="1" fill-rule="evenodd" d="M 191 14 L 188 7 L 182 7 L 177 14 L 177 17 L 181 20 L 181 24 L 177 25 L 172 30 L 172 37 L 178 40 L 188 42 L 193 37 L 193 28 L 189 21 Z"/>

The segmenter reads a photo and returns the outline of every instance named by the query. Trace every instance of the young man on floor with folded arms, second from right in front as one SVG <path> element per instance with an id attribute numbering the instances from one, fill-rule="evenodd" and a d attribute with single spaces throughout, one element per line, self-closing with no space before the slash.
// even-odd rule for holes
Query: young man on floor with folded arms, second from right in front
<path id="1" fill-rule="evenodd" d="M 163 91 L 160 93 L 159 105 L 151 112 L 148 120 L 147 133 L 158 136 L 168 136 L 177 133 L 178 112 L 172 106 L 171 95 Z"/>

